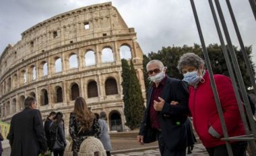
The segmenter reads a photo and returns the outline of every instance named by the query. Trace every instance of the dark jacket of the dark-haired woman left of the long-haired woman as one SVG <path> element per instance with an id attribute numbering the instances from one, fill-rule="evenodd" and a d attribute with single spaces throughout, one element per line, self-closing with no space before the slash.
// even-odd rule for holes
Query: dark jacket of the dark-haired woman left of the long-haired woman
<path id="1" fill-rule="evenodd" d="M 56 135 L 56 132 L 57 132 L 57 135 Z M 51 125 L 50 125 L 50 136 L 51 136 L 51 143 L 52 143 L 51 149 L 53 148 L 53 145 L 56 141 L 56 138 L 60 143 L 64 143 L 64 147 L 67 145 L 66 139 L 65 139 L 64 126 L 63 126 L 62 121 L 59 123 L 59 125 L 55 125 L 54 122 L 51 123 Z"/>

